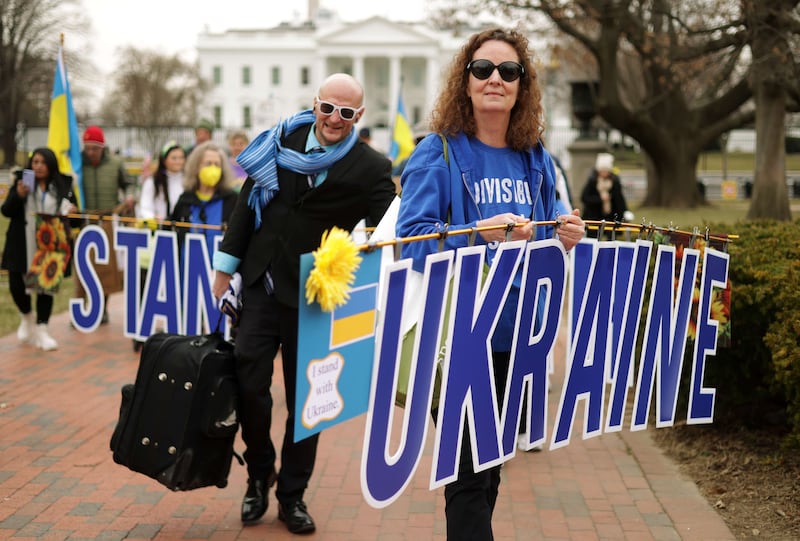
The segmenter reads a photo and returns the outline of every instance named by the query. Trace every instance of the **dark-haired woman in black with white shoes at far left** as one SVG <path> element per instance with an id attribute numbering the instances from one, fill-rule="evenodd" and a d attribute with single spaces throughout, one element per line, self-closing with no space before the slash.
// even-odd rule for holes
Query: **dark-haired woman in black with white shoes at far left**
<path id="1" fill-rule="evenodd" d="M 23 180 L 23 172 L 15 174 L 14 183 L 2 206 L 3 216 L 10 218 L 3 249 L 2 268 L 8 271 L 11 298 L 20 311 L 22 321 L 17 338 L 50 351 L 58 343 L 50 336 L 47 324 L 53 312 L 52 292 L 36 290 L 36 314 L 32 310 L 31 294 L 35 288 L 25 283 L 36 254 L 36 214 L 61 215 L 75 210 L 72 178 L 59 173 L 55 153 L 46 147 L 35 149 L 28 159 L 27 169 L 33 171 L 33 184 Z M 63 269 L 67 271 L 67 268 Z"/>

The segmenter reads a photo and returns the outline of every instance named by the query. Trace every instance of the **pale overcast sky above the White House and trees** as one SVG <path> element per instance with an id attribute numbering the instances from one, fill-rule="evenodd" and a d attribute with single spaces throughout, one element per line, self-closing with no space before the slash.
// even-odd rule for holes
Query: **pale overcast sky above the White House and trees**
<path id="1" fill-rule="evenodd" d="M 269 28 L 283 21 L 307 18 L 307 2 L 264 0 L 82 0 L 92 22 L 88 37 L 92 62 L 103 73 L 115 66 L 118 47 L 133 45 L 162 54 L 194 59 L 197 35 L 233 28 Z M 421 20 L 424 0 L 322 0 L 335 7 L 342 20 L 373 15 L 392 20 Z"/>

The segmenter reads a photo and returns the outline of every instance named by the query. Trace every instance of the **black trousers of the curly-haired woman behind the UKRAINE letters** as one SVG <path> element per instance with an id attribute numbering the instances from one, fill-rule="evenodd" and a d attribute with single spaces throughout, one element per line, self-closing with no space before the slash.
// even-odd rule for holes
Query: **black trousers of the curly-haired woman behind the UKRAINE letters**
<path id="1" fill-rule="evenodd" d="M 494 352 L 497 399 L 503 404 L 508 375 L 509 352 Z M 444 513 L 447 519 L 448 541 L 490 541 L 492 514 L 500 487 L 500 466 L 475 473 L 472 468 L 472 445 L 469 430 L 464 425 L 464 439 L 458 462 L 458 479 L 444 487 Z"/>

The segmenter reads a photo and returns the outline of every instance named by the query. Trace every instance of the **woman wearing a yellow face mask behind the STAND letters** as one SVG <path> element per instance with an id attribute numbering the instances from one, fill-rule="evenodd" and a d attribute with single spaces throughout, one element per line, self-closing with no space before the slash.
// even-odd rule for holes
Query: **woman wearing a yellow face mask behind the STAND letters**
<path id="1" fill-rule="evenodd" d="M 197 145 L 186 159 L 183 182 L 186 191 L 173 207 L 171 219 L 224 229 L 236 205 L 233 182 L 233 171 L 222 148 L 210 141 Z M 215 237 L 223 233 L 222 229 L 200 227 L 178 227 L 177 231 L 204 234 L 210 257 L 214 254 Z"/>

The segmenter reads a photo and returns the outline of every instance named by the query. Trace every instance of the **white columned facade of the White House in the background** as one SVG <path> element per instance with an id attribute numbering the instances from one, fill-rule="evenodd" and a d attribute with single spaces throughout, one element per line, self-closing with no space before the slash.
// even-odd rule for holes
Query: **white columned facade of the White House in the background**
<path id="1" fill-rule="evenodd" d="M 202 33 L 197 56 L 212 87 L 200 116 L 224 130 L 257 133 L 311 107 L 325 77 L 345 72 L 364 85 L 359 127 L 369 127 L 385 150 L 401 94 L 409 123 L 424 130 L 442 70 L 463 41 L 422 23 L 378 16 L 341 22 L 326 10 L 313 24 Z"/>

